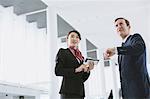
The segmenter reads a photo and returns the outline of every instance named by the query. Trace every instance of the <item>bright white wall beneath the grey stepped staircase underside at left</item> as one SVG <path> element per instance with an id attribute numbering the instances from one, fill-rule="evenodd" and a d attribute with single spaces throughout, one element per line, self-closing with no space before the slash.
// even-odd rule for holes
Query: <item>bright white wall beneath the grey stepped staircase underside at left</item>
<path id="1" fill-rule="evenodd" d="M 19 84 L 48 81 L 46 29 L 0 6 L 0 80 Z"/>

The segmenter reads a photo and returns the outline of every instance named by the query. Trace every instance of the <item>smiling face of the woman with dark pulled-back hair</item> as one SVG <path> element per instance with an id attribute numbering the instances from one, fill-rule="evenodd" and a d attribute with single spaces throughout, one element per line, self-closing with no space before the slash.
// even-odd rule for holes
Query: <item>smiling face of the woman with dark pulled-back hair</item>
<path id="1" fill-rule="evenodd" d="M 77 47 L 80 42 L 79 36 L 75 32 L 71 32 L 67 37 L 68 47 Z"/>

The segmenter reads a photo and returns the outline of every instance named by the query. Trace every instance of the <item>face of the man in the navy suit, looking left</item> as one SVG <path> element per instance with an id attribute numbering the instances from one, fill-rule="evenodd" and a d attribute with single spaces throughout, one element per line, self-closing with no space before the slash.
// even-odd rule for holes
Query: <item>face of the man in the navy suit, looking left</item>
<path id="1" fill-rule="evenodd" d="M 115 27 L 117 33 L 121 36 L 122 39 L 124 39 L 127 35 L 129 35 L 130 26 L 127 26 L 124 19 L 118 19 L 115 22 Z"/>

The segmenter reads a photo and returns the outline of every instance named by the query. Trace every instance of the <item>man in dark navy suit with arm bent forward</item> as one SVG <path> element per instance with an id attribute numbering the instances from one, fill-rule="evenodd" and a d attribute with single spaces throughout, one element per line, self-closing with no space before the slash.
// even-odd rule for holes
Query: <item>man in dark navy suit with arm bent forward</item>
<path id="1" fill-rule="evenodd" d="M 105 58 L 118 54 L 123 99 L 150 99 L 150 81 L 146 67 L 146 46 L 140 34 L 130 35 L 130 23 L 125 18 L 115 20 L 121 47 L 108 48 Z"/>

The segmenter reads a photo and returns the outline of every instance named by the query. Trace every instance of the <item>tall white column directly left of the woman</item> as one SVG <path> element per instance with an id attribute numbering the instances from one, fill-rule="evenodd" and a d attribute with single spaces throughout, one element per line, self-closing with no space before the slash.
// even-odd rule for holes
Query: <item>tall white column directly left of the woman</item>
<path id="1" fill-rule="evenodd" d="M 54 8 L 47 9 L 47 35 L 49 46 L 50 99 L 59 99 L 59 77 L 55 76 L 55 57 L 58 52 L 57 14 Z"/>

